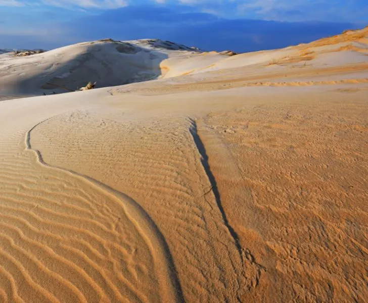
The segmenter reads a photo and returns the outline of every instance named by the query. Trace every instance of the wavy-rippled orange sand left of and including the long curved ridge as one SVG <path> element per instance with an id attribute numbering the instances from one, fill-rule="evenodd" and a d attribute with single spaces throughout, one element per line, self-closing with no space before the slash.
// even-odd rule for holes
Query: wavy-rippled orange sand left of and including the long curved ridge
<path id="1" fill-rule="evenodd" d="M 125 195 L 1 133 L 2 302 L 181 301 L 166 243 Z"/>

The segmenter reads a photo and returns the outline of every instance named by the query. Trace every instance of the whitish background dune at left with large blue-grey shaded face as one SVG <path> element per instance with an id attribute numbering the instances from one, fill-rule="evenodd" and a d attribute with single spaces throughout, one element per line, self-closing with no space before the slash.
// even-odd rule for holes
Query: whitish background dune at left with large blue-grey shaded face
<path id="1" fill-rule="evenodd" d="M 155 79 L 160 62 L 170 56 L 200 52 L 162 40 L 84 42 L 52 51 L 14 57 L 0 56 L 0 92 L 13 96 L 75 91 L 88 81 L 97 87 Z"/>

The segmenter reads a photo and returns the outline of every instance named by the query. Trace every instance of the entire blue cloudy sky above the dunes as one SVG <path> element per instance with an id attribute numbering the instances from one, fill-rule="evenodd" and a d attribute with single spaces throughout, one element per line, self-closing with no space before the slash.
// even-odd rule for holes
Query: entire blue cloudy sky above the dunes
<path id="1" fill-rule="evenodd" d="M 368 0 L 0 0 L 0 48 L 159 38 L 251 52 L 368 25 Z"/>

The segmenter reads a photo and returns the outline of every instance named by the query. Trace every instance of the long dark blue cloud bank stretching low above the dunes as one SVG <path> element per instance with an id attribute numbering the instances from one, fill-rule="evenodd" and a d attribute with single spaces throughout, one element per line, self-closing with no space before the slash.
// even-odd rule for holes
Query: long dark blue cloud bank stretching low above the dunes
<path id="1" fill-rule="evenodd" d="M 297 17 L 302 12 L 294 10 L 286 14 Z M 107 37 L 117 40 L 160 38 L 206 50 L 231 49 L 236 52 L 250 52 L 309 42 L 356 27 L 357 25 L 352 23 L 339 22 L 221 19 L 188 6 L 144 5 L 75 18 L 54 27 L 63 30 L 60 36 L 53 34 L 50 28 L 53 39 L 49 39 L 49 42 L 34 38 L 32 43 L 32 38 L 28 37 L 23 40 L 22 47 L 54 48 Z M 22 41 L 18 41 L 17 45 L 19 42 Z M 4 47 L 15 46 L 10 43 Z"/>

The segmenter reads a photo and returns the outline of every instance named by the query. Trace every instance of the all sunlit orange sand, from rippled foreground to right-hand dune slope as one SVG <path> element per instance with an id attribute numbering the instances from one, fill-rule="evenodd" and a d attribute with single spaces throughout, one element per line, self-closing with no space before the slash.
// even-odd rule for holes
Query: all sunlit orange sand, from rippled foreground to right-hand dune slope
<path id="1" fill-rule="evenodd" d="M 368 57 L 339 44 L 358 33 L 176 49 L 157 80 L 83 92 L 3 82 L 0 302 L 364 302 Z"/>

